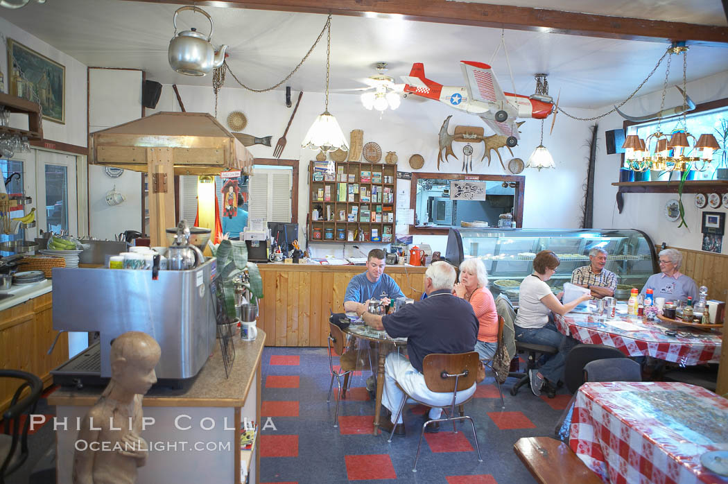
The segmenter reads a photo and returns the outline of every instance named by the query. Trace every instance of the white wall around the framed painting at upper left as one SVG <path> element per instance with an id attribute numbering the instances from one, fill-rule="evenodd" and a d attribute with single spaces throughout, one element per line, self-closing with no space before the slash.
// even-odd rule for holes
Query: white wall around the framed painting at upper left
<path id="1" fill-rule="evenodd" d="M 86 66 L 70 55 L 60 52 L 60 50 L 55 49 L 50 44 L 41 41 L 41 39 L 7 22 L 2 17 L 0 17 L 0 33 L 2 33 L 5 39 L 13 39 L 14 41 L 20 42 L 25 47 L 33 49 L 39 54 L 45 55 L 66 67 L 66 124 L 44 119 L 43 137 L 47 140 L 59 141 L 60 143 L 86 146 Z M 7 55 L 5 53 L 7 52 L 7 45 L 4 47 L 4 52 L 0 55 L 0 71 L 5 76 L 4 92 L 7 93 L 10 71 L 7 66 Z M 22 115 L 18 114 L 14 116 L 17 116 L 17 119 L 19 119 Z M 28 116 L 23 117 L 27 119 Z M 15 123 L 15 121 L 12 123 Z"/>

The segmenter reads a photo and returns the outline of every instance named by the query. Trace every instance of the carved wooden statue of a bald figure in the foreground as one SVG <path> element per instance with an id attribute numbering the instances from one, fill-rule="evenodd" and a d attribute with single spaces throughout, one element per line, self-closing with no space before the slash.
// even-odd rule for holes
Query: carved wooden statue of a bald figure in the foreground
<path id="1" fill-rule="evenodd" d="M 144 394 L 157 382 L 162 350 L 154 338 L 129 331 L 111 345 L 111 381 L 84 417 L 74 454 L 74 484 L 133 484 L 146 464 L 141 437 Z M 82 445 L 78 445 L 79 442 Z M 79 451 L 79 448 L 84 450 Z"/>

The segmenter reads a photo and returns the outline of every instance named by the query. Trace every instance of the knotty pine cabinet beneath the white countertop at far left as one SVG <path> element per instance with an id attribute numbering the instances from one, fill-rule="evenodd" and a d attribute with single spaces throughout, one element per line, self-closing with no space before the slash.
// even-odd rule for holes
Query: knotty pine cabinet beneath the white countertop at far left
<path id="1" fill-rule="evenodd" d="M 56 335 L 52 305 L 53 295 L 47 293 L 0 312 L 0 368 L 33 373 L 44 387 L 53 383 L 50 370 L 68 360 L 66 333 L 47 354 Z M 18 384 L 20 381 L 0 381 L 0 412 L 8 408 Z"/>

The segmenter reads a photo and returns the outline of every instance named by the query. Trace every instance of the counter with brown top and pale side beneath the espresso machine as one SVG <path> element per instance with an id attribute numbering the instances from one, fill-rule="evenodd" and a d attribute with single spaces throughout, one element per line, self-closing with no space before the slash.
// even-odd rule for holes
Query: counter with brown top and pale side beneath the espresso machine
<path id="1" fill-rule="evenodd" d="M 139 484 L 245 482 L 241 469 L 250 469 L 250 483 L 259 482 L 260 439 L 256 436 L 252 450 L 240 451 L 240 429 L 244 420 L 260 424 L 258 435 L 263 427 L 261 357 L 265 340 L 261 330 L 256 341 L 235 338 L 229 378 L 217 344 L 186 389 L 151 389 L 146 394 L 144 417 L 154 418 L 154 423 L 142 434 L 150 453 L 146 466 L 139 468 Z M 68 422 L 67 429 L 59 426 L 56 431 L 58 483 L 71 484 L 78 435 L 75 417 L 83 417 L 102 391 L 102 387 L 61 388 L 48 397 L 48 403 L 56 405 L 58 421 Z M 194 448 L 199 443 L 201 448 Z"/>

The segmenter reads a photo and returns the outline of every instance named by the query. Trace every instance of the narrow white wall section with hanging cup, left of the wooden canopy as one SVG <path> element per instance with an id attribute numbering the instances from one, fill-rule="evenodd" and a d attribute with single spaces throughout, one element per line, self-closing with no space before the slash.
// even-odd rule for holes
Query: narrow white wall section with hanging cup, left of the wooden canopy
<path id="1" fill-rule="evenodd" d="M 130 122 L 141 117 L 141 71 L 89 70 L 89 131 Z M 114 240 L 124 230 L 141 231 L 141 173 L 124 170 L 109 178 L 104 167 L 89 165 L 90 232 L 97 239 Z M 126 200 L 106 203 L 106 192 L 116 191 Z"/>

